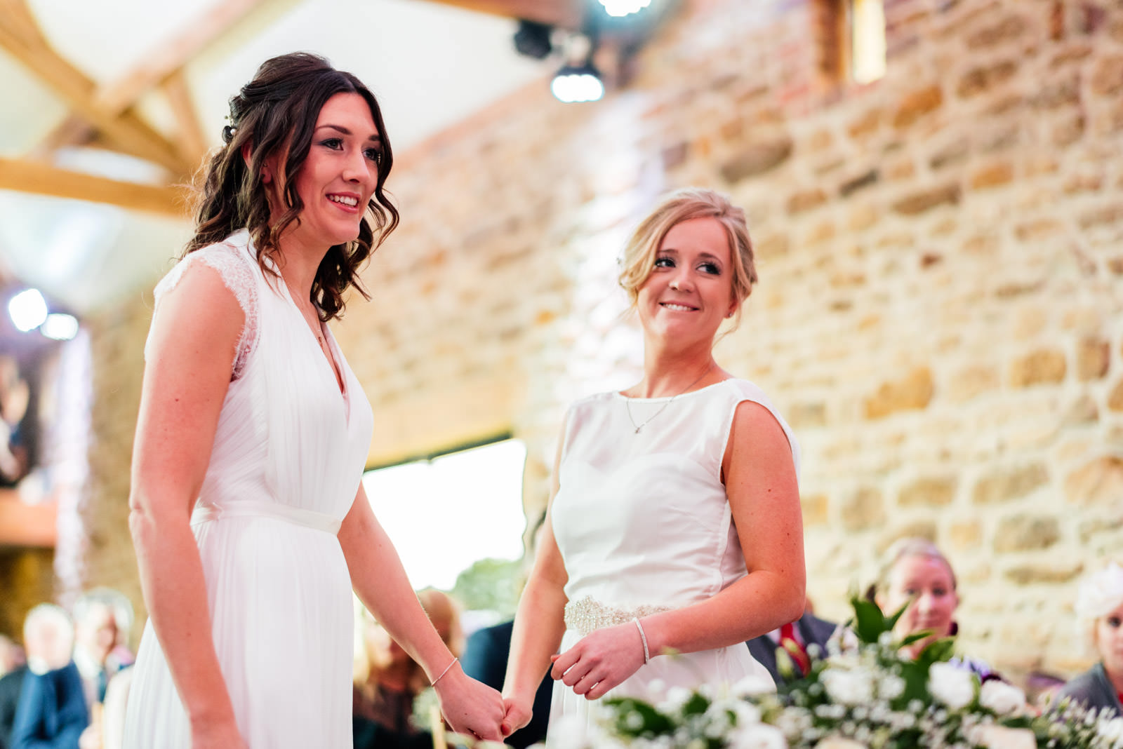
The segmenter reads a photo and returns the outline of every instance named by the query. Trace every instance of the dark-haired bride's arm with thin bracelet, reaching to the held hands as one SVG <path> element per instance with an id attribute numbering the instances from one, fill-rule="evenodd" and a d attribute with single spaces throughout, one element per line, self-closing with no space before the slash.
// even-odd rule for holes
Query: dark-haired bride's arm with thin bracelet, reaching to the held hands
<path id="1" fill-rule="evenodd" d="M 454 730 L 499 740 L 503 704 L 499 692 L 468 677 L 440 639 L 386 531 L 359 484 L 355 501 L 339 527 L 351 584 L 359 599 L 390 636 L 437 683 L 440 706 Z"/>

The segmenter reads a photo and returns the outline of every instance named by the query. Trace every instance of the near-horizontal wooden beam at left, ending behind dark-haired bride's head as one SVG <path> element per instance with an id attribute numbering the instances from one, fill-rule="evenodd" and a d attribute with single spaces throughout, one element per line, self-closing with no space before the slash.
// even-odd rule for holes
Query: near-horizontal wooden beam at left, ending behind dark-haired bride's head
<path id="1" fill-rule="evenodd" d="M 184 187 L 108 179 L 26 159 L 0 157 L 0 189 L 108 203 L 176 218 L 186 218 L 190 212 L 190 193 Z"/>

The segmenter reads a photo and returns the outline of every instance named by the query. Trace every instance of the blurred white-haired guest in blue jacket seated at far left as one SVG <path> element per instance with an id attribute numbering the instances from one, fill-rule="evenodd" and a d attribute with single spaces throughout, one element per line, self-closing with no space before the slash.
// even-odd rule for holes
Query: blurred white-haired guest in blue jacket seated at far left
<path id="1" fill-rule="evenodd" d="M 24 677 L 10 749 L 74 749 L 90 722 L 82 677 L 74 665 L 74 628 L 57 605 L 40 603 L 24 623 Z"/>

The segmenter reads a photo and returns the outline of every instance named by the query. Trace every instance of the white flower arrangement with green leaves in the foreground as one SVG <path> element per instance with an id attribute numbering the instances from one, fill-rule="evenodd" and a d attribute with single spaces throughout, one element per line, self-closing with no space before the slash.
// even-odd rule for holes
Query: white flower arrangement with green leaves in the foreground
<path id="1" fill-rule="evenodd" d="M 851 603 L 852 642 L 832 642 L 827 654 L 809 648 L 810 672 L 776 692 L 756 679 L 727 694 L 705 686 L 695 692 L 652 687 L 650 702 L 605 700 L 599 731 L 555 746 L 1123 749 L 1123 718 L 1101 716 L 1067 703 L 1039 713 L 1026 705 L 1017 687 L 999 679 L 980 683 L 952 658 L 950 639 L 933 641 L 911 659 L 901 648 L 926 634 L 894 638 L 893 626 L 904 609 L 885 616 L 857 597 Z M 778 655 L 780 668 L 793 673 L 783 650 Z"/>

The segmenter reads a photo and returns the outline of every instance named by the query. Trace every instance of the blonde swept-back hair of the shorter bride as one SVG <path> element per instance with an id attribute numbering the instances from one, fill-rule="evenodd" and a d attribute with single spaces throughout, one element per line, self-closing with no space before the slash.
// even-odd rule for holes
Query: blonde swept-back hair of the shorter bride
<path id="1" fill-rule="evenodd" d="M 745 211 L 733 205 L 728 195 L 714 189 L 685 187 L 668 194 L 655 206 L 624 246 L 620 286 L 628 293 L 628 298 L 634 307 L 639 288 L 651 275 L 656 256 L 667 232 L 692 219 L 716 219 L 725 229 L 733 263 L 733 297 L 738 302 L 737 321 L 739 321 L 740 304 L 749 297 L 752 285 L 757 283 L 752 240 L 749 238 Z"/>

